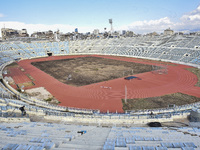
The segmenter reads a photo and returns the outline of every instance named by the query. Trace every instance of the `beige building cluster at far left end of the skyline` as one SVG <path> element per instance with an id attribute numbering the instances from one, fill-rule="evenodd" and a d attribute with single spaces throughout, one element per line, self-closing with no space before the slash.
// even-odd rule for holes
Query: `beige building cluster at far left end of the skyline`
<path id="1" fill-rule="evenodd" d="M 1 35 L 3 41 L 16 37 L 29 37 L 26 29 L 16 30 L 10 28 L 2 28 Z"/>

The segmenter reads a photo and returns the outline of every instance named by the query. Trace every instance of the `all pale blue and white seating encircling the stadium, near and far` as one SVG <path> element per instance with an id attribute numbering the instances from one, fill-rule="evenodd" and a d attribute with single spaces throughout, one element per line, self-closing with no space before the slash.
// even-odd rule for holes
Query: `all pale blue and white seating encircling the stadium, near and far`
<path id="1" fill-rule="evenodd" d="M 200 68 L 200 36 L 139 36 L 77 41 L 1 42 L 1 79 L 6 65 L 19 59 L 73 54 L 102 54 L 165 60 Z M 2 150 L 103 149 L 103 150 L 198 150 L 200 130 L 195 127 L 134 127 L 151 121 L 186 118 L 200 103 L 137 112 L 99 113 L 98 110 L 50 105 L 13 92 L 0 82 L 0 148 Z M 14 96 L 15 95 L 15 96 Z M 20 99 L 20 100 L 19 100 Z M 25 106 L 27 116 L 18 109 Z M 154 115 L 150 115 L 149 112 Z M 30 122 L 29 115 L 62 121 Z M 67 123 L 66 123 L 66 122 Z M 12 123 L 15 122 L 15 123 Z M 16 123 L 19 122 L 19 123 Z M 71 123 L 71 124 L 69 124 Z M 85 124 L 85 125 L 78 125 Z M 94 125 L 92 125 L 94 124 Z M 104 126 L 106 125 L 106 126 Z M 116 127 L 119 126 L 119 127 Z M 126 127 L 122 127 L 126 126 Z"/>

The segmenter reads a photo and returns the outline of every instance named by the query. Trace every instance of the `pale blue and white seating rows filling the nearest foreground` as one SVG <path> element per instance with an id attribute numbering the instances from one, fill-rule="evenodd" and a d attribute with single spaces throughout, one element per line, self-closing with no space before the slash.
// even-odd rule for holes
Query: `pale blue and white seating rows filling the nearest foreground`
<path id="1" fill-rule="evenodd" d="M 199 134 L 199 129 L 193 127 L 127 128 L 41 122 L 1 123 L 0 148 L 198 150 Z"/>

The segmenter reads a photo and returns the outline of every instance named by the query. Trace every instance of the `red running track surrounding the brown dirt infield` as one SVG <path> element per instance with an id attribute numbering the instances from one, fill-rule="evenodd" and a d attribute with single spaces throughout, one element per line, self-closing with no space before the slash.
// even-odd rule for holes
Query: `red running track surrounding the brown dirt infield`
<path id="1" fill-rule="evenodd" d="M 195 87 L 198 79 L 195 74 L 184 69 L 189 68 L 189 66 L 185 65 L 168 65 L 167 74 L 154 74 L 152 72 L 147 72 L 135 75 L 142 80 L 134 79 L 127 81 L 124 80 L 124 78 L 118 78 L 106 82 L 73 87 L 59 82 L 30 64 L 35 61 L 85 56 L 53 56 L 48 58 L 23 60 L 18 62 L 18 64 L 20 67 L 25 69 L 24 73 L 30 74 L 35 79 L 35 86 L 32 88 L 45 87 L 61 102 L 60 105 L 68 107 L 99 109 L 101 112 L 106 112 L 107 110 L 110 112 L 123 112 L 121 99 L 125 97 L 125 86 L 127 87 L 127 98 L 156 97 L 176 92 L 200 97 L 200 87 Z M 135 58 L 96 55 L 95 57 L 159 65 L 156 61 L 146 62 Z M 20 76 L 18 77 L 20 78 Z"/>

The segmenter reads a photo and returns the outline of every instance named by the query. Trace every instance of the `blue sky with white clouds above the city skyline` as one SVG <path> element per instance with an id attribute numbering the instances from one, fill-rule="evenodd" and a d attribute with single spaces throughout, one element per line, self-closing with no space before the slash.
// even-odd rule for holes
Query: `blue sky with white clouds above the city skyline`
<path id="1" fill-rule="evenodd" d="M 199 0 L 0 0 L 0 28 L 93 32 L 130 30 L 136 34 L 200 31 Z M 0 34 L 1 36 L 1 34 Z"/>

